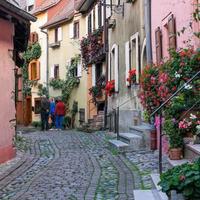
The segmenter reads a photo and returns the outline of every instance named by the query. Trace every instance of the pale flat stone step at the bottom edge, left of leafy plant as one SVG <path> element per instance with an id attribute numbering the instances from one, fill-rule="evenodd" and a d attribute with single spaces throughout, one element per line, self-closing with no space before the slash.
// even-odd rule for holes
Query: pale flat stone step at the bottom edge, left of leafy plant
<path id="1" fill-rule="evenodd" d="M 134 190 L 133 194 L 134 200 L 163 200 L 157 190 Z"/>

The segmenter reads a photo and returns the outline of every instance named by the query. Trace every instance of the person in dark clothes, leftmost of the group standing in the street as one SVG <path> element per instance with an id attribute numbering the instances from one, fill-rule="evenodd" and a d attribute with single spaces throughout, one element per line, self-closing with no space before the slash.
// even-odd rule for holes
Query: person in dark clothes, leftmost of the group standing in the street
<path id="1" fill-rule="evenodd" d="M 42 131 L 49 130 L 49 109 L 50 109 L 50 103 L 46 96 L 42 96 L 41 99 L 41 123 L 42 123 Z"/>

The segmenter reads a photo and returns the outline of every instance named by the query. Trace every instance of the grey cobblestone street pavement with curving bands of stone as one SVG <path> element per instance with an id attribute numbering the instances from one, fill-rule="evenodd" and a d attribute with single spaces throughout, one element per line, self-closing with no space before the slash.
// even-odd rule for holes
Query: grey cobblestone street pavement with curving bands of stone
<path id="1" fill-rule="evenodd" d="M 133 200 L 131 162 L 110 150 L 104 133 L 24 134 L 29 150 L 0 174 L 0 199 Z"/>

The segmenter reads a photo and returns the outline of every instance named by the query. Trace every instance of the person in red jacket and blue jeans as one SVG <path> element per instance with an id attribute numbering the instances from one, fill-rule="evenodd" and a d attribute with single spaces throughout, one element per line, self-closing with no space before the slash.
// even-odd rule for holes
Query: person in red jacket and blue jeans
<path id="1" fill-rule="evenodd" d="M 56 104 L 56 110 L 55 110 L 57 129 L 63 129 L 65 110 L 66 110 L 65 104 L 60 99 L 58 99 L 58 103 Z"/>

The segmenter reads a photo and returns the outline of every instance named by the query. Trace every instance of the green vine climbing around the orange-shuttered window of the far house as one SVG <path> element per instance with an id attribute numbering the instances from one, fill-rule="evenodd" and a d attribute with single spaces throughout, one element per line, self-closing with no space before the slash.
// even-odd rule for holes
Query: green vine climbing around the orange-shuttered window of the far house
<path id="1" fill-rule="evenodd" d="M 37 81 L 29 80 L 28 65 L 34 59 L 39 59 L 41 56 L 41 46 L 39 43 L 30 44 L 23 54 L 24 65 L 22 67 L 23 77 L 23 95 L 31 95 L 31 87 L 37 84 Z"/>

